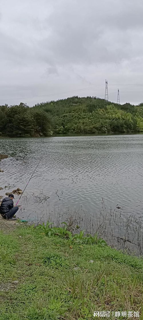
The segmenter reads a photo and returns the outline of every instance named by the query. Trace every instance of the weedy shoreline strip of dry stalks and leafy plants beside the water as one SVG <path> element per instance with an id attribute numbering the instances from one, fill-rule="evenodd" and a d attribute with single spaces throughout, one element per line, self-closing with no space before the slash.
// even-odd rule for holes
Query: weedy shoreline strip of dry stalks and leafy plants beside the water
<path id="1" fill-rule="evenodd" d="M 68 217 L 63 214 L 60 218 L 56 215 L 52 216 L 49 214 L 48 216 L 46 215 L 46 221 L 44 215 L 41 218 L 39 217 L 39 220 L 21 220 L 21 218 L 17 217 L 16 221 L 4 220 L 0 215 L 0 230 L 4 230 L 5 233 L 9 233 L 19 226 L 34 226 L 34 228 L 36 228 L 41 225 L 45 235 L 47 235 L 48 232 L 52 235 L 54 234 L 54 229 L 64 228 L 65 235 L 67 231 L 66 239 L 77 237 L 80 234 L 82 234 L 83 240 L 89 236 L 96 236 L 103 240 L 105 245 L 119 252 L 121 251 L 130 256 L 143 258 L 143 233 L 141 220 L 137 220 L 135 216 L 131 215 L 130 218 L 127 218 L 127 220 L 123 222 L 122 227 L 125 225 L 126 228 L 122 230 L 122 233 L 121 225 L 118 232 L 114 229 L 115 226 L 119 226 L 119 224 L 121 224 L 120 220 L 121 215 L 115 211 L 111 212 L 110 216 L 107 216 L 105 211 L 102 212 L 102 215 L 98 217 L 97 222 L 95 222 L 95 220 L 91 221 L 91 216 L 88 220 L 85 215 L 85 217 L 82 217 L 82 223 L 84 224 L 84 227 L 85 225 L 86 227 L 83 228 L 80 222 L 80 213 L 70 213 Z M 134 236 L 132 233 L 134 233 Z"/>

